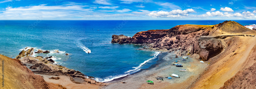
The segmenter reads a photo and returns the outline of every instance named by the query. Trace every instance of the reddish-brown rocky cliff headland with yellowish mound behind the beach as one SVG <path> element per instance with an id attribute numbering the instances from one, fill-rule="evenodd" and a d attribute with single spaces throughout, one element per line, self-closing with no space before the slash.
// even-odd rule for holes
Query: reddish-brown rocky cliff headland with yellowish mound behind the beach
<path id="1" fill-rule="evenodd" d="M 112 43 L 147 43 L 148 47 L 156 50 L 180 50 L 178 55 L 199 54 L 207 61 L 218 55 L 223 47 L 218 39 L 199 41 L 202 35 L 220 35 L 226 33 L 242 33 L 250 31 L 248 28 L 234 21 L 225 21 L 216 25 L 178 25 L 167 30 L 148 30 L 136 33 L 132 38 L 124 35 L 112 36 Z M 113 41 L 114 40 L 114 41 Z M 202 43 L 201 43 L 202 42 Z M 217 42 L 211 44 L 211 42 Z M 203 45 L 203 46 L 202 46 Z"/>

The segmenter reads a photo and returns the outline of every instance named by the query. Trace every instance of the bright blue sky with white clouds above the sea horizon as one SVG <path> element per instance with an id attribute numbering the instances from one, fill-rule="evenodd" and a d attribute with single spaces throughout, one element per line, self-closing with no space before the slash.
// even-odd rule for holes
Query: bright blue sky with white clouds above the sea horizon
<path id="1" fill-rule="evenodd" d="M 255 20 L 243 0 L 2 0 L 0 20 Z"/>

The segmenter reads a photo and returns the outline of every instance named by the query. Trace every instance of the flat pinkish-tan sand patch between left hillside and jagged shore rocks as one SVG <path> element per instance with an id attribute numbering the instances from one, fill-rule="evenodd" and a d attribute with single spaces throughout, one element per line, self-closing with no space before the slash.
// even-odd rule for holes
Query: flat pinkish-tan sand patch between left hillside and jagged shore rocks
<path id="1" fill-rule="evenodd" d="M 40 74 L 37 74 L 40 75 Z M 47 83 L 60 84 L 67 89 L 98 89 L 100 85 L 96 84 L 76 84 L 73 83 L 68 76 L 49 76 L 49 75 L 41 75 L 44 77 L 44 80 Z M 49 79 L 51 77 L 60 77 L 60 79 Z"/>

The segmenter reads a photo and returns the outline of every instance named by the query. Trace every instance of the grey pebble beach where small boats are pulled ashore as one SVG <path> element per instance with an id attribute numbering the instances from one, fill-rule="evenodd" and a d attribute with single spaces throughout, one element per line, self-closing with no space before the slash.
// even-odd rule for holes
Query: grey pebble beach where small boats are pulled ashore
<path id="1" fill-rule="evenodd" d="M 104 89 L 153 89 L 153 88 L 187 88 L 207 67 L 206 63 L 200 63 L 197 59 L 188 58 L 187 61 L 178 62 L 182 64 L 183 67 L 176 67 L 172 63 L 177 60 L 181 60 L 182 57 L 174 58 L 171 55 L 173 53 L 162 53 L 158 56 L 159 60 L 156 64 L 152 65 L 150 68 L 142 69 L 132 75 L 125 76 L 120 79 L 115 79 L 106 83 L 113 83 L 107 86 L 103 86 Z M 179 69 L 187 69 L 187 71 L 180 71 Z M 180 78 L 172 77 L 172 79 L 167 79 L 165 77 L 170 77 L 169 75 L 176 74 Z M 156 80 L 155 77 L 161 76 L 164 81 Z M 154 84 L 147 84 L 146 81 L 151 80 Z M 120 83 L 126 82 L 126 83 Z M 184 86 L 185 85 L 185 86 Z M 187 85 L 187 86 L 186 86 Z"/>

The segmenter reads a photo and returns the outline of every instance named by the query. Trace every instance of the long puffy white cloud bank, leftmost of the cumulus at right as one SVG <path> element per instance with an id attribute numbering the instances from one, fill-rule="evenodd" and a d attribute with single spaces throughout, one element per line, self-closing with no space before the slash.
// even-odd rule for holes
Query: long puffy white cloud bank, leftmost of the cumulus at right
<path id="1" fill-rule="evenodd" d="M 158 12 L 151 12 L 147 14 L 151 17 L 169 17 L 169 18 L 182 18 L 184 16 L 188 16 L 189 13 L 195 12 L 193 9 L 186 9 L 186 10 L 172 10 L 170 12 L 167 11 L 158 11 Z"/>

